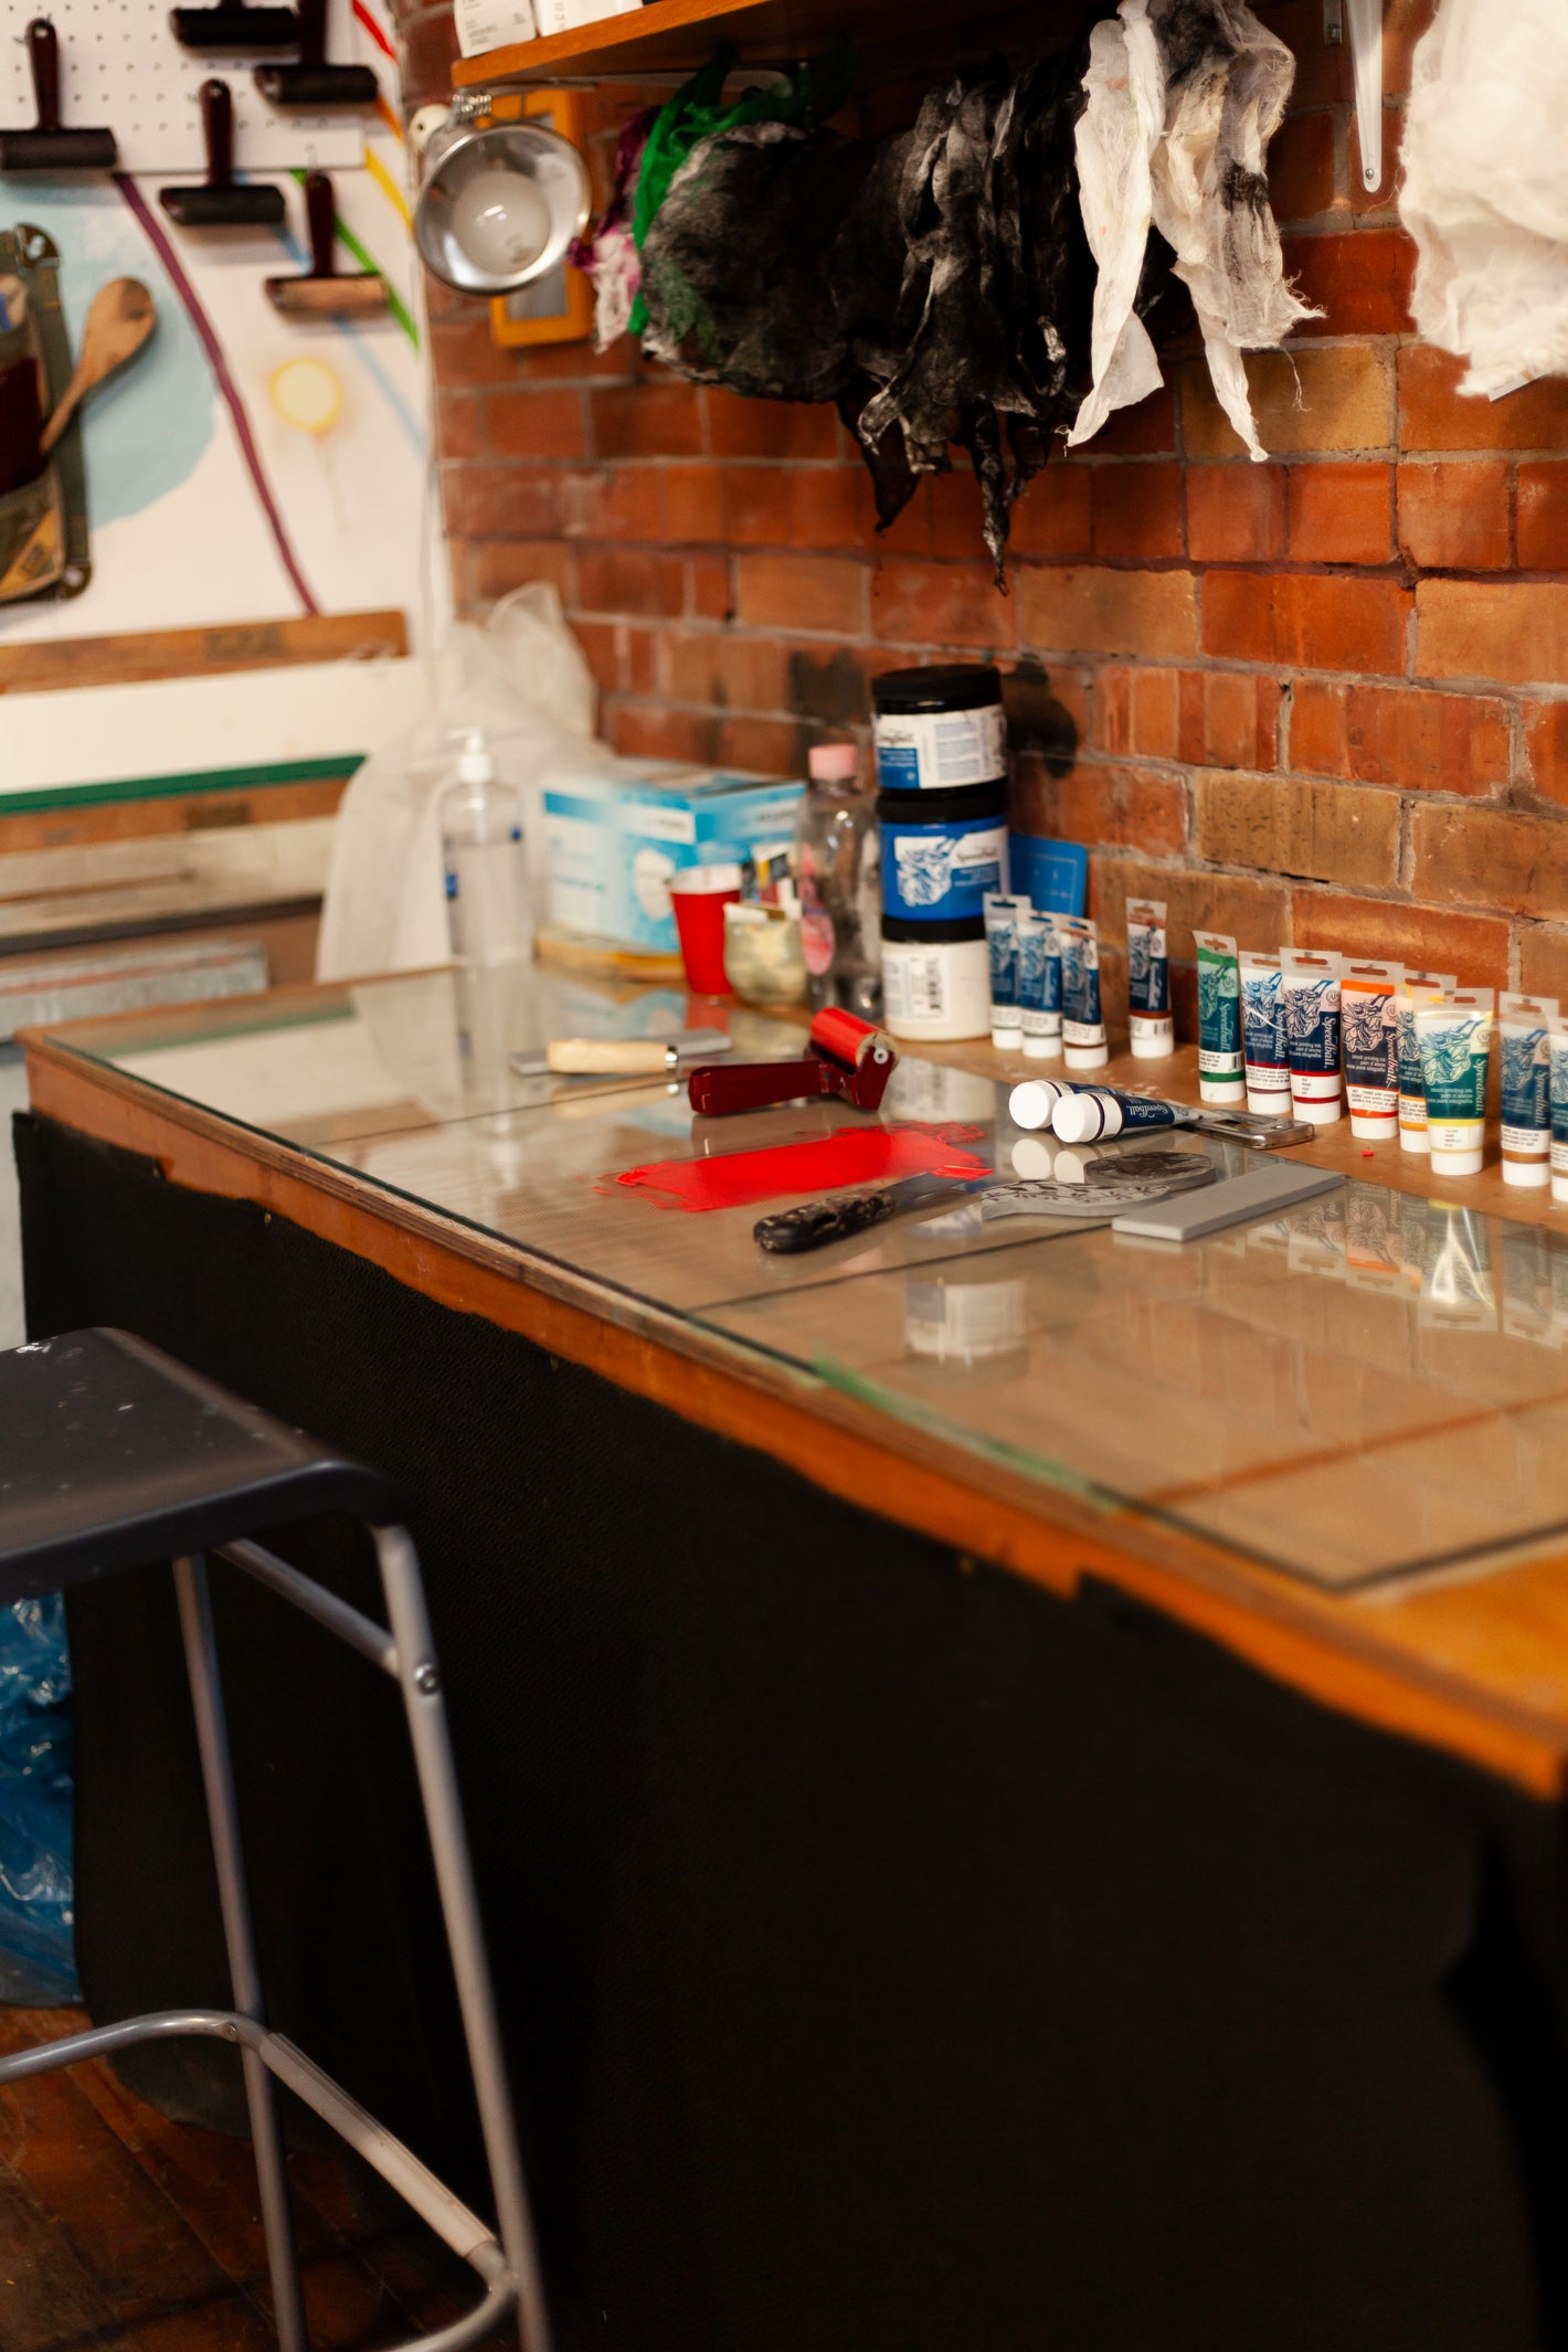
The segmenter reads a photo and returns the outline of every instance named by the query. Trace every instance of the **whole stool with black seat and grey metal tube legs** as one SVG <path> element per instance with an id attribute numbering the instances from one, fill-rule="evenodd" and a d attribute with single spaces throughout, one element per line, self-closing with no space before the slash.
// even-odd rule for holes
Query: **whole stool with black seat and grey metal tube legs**
<path id="1" fill-rule="evenodd" d="M 390 1632 L 252 1538 L 289 1519 L 364 1519 Z M 240 2046 L 261 2223 L 282 2352 L 308 2352 L 273 2077 L 306 2100 L 480 2272 L 484 2300 L 407 2352 L 461 2352 L 510 2314 L 524 2352 L 548 2352 L 534 2230 L 505 2089 L 496 2004 L 442 1682 L 414 1543 L 388 1479 L 317 1446 L 125 1331 L 73 1331 L 0 1352 L 0 1606 L 174 1559 L 186 1670 L 223 1905 L 233 2009 L 172 2009 L 42 2042 L 0 2060 L 0 2086 L 134 2042 L 214 2034 Z M 402 1686 L 458 1985 L 498 2232 L 282 2034 L 268 2032 L 240 1849 L 228 1724 L 205 1552 L 219 1552 L 362 1651 Z"/>

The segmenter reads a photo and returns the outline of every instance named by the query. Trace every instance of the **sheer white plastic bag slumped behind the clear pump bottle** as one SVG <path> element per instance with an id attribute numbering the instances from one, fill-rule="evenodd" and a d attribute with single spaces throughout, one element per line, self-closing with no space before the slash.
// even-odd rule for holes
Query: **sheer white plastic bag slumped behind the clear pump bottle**
<path id="1" fill-rule="evenodd" d="M 447 962 L 437 797 L 456 762 L 454 729 L 482 727 L 496 771 L 524 793 L 536 889 L 541 774 L 611 757 L 592 741 L 592 675 L 545 581 L 517 588 L 482 623 L 454 623 L 428 668 L 425 717 L 371 753 L 343 793 L 315 950 L 320 981 Z"/>

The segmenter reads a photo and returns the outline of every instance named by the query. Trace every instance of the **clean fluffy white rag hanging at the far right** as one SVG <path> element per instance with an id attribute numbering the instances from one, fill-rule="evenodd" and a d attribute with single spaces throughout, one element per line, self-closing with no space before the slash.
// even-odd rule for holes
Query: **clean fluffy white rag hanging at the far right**
<path id="1" fill-rule="evenodd" d="M 1410 66 L 1410 313 L 1462 393 L 1568 374 L 1568 5 L 1443 0 Z"/>

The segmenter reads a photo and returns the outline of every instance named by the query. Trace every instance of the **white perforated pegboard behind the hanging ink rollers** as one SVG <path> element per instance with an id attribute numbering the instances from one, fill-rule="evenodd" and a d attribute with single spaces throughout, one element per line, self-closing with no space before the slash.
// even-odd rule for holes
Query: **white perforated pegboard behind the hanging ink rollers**
<path id="1" fill-rule="evenodd" d="M 195 0 L 200 5 L 200 0 Z M 33 7 L 0 5 L 0 127 L 26 129 L 38 120 L 33 75 L 21 26 Z M 320 115 L 268 106 L 252 73 L 277 56 L 230 59 L 181 49 L 169 31 L 169 0 L 40 0 L 59 33 L 61 120 L 66 129 L 110 129 L 122 172 L 205 172 L 197 89 L 212 75 L 228 82 L 235 103 L 235 169 L 287 172 L 320 165 L 343 172 L 364 162 L 364 122 L 353 111 Z M 327 0 L 327 61 L 376 66 L 386 56 L 362 35 L 350 0 Z M 390 89 L 395 101 L 395 89 Z M 0 198 L 21 186 L 0 179 Z"/>

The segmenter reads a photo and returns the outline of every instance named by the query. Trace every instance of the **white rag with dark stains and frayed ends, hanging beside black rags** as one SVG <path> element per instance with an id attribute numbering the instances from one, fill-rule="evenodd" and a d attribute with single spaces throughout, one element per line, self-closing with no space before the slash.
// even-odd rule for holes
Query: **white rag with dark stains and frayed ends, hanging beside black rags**
<path id="1" fill-rule="evenodd" d="M 1220 407 L 1262 463 L 1241 353 L 1272 350 L 1321 315 L 1286 285 L 1265 169 L 1295 59 L 1244 0 L 1121 0 L 1117 19 L 1091 35 L 1077 127 L 1100 275 L 1093 383 L 1067 440 L 1088 440 L 1159 383 L 1128 299 L 1154 226 L 1192 294 Z"/>

